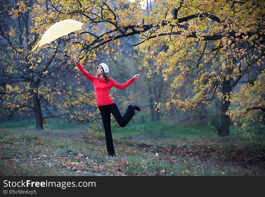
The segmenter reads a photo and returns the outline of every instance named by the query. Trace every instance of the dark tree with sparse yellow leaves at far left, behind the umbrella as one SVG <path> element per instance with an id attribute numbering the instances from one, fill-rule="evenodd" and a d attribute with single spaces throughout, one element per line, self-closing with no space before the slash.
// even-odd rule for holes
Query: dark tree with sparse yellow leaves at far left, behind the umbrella
<path id="1" fill-rule="evenodd" d="M 47 4 L 41 7 L 34 2 L 16 1 L 14 4 L 13 1 L 1 1 L 1 120 L 14 113 L 32 115 L 35 116 L 36 129 L 43 129 L 43 121 L 53 117 L 95 121 L 99 116 L 93 109 L 94 92 L 86 93 L 83 87 L 67 87 L 62 80 L 59 86 L 58 82 L 46 81 L 63 78 L 72 70 L 61 70 L 67 60 L 66 56 L 58 56 L 61 40 L 51 44 L 49 50 L 30 53 L 37 41 L 36 28 L 47 28 L 46 25 L 36 26 L 39 21 L 35 20 L 35 14 L 49 12 Z M 76 111 L 78 108 L 83 110 Z"/>

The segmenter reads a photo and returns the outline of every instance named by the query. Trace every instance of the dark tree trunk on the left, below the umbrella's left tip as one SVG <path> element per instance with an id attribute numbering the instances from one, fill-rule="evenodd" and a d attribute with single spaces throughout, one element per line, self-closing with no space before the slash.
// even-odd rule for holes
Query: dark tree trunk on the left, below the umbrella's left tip
<path id="1" fill-rule="evenodd" d="M 37 88 L 36 88 L 36 91 L 33 92 L 33 106 L 34 106 L 34 114 L 35 114 L 35 121 L 36 121 L 36 129 L 43 130 L 43 117 L 42 117 L 40 99 L 39 99 Z"/>

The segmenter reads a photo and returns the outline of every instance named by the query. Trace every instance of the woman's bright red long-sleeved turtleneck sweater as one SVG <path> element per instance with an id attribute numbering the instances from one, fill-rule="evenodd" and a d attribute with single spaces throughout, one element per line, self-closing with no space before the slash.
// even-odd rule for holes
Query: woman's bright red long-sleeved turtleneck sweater
<path id="1" fill-rule="evenodd" d="M 115 82 L 113 79 L 110 78 L 108 83 L 106 83 L 105 79 L 101 79 L 101 77 L 98 77 L 100 79 L 100 80 L 98 80 L 97 77 L 92 76 L 88 72 L 86 72 L 86 70 L 82 67 L 80 62 L 76 65 L 79 68 L 79 70 L 81 71 L 81 73 L 83 73 L 83 75 L 85 75 L 86 78 L 88 78 L 93 83 L 93 86 L 94 86 L 94 89 L 96 92 L 96 98 L 97 98 L 97 105 L 98 106 L 110 105 L 110 104 L 114 103 L 114 101 L 111 99 L 111 97 L 109 95 L 109 91 L 111 90 L 112 86 L 119 88 L 119 89 L 124 89 L 124 88 L 128 87 L 132 82 L 135 81 L 135 78 L 133 77 L 132 79 L 130 79 L 126 83 L 118 84 L 117 82 Z"/>

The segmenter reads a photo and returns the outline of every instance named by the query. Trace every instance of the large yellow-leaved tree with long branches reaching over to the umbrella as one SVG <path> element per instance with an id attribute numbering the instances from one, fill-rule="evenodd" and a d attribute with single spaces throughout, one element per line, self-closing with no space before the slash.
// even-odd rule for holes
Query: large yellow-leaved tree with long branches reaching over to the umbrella
<path id="1" fill-rule="evenodd" d="M 37 27 L 34 32 L 42 34 L 52 22 L 68 18 L 86 23 L 84 31 L 70 34 L 67 39 L 75 51 L 79 50 L 81 63 L 93 62 L 100 53 L 113 54 L 115 59 L 120 52 L 114 46 L 122 45 L 121 38 L 140 36 L 142 40 L 134 46 L 146 54 L 145 65 L 149 66 L 152 59 L 153 67 L 163 68 L 164 80 L 173 79 L 172 97 L 166 106 L 173 103 L 182 110 L 195 109 L 200 104 L 210 106 L 214 98 L 220 99 L 219 135 L 228 136 L 230 103 L 242 99 L 232 94 L 233 88 L 243 76 L 255 74 L 255 79 L 259 79 L 264 70 L 265 3 L 231 0 L 154 3 L 156 7 L 145 15 L 138 0 L 49 1 L 49 12 L 38 5 L 34 8 L 38 13 L 34 17 Z M 193 80 L 194 95 L 182 100 L 174 89 L 188 78 Z M 249 92 L 253 94 L 253 90 Z M 263 105 L 261 96 L 255 100 L 260 103 L 248 103 L 245 110 L 261 110 L 257 107 Z"/>

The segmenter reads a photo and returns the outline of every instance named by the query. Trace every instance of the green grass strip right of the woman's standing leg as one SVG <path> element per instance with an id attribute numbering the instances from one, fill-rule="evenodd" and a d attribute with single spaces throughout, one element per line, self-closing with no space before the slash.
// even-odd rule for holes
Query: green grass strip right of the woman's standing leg
<path id="1" fill-rule="evenodd" d="M 264 134 L 243 135 L 242 130 L 230 126 L 230 133 L 227 137 L 219 137 L 212 125 L 200 124 L 177 124 L 167 125 L 164 121 L 131 124 L 126 127 L 112 127 L 115 139 L 130 140 L 137 142 L 180 142 L 180 141 L 201 141 L 201 140 L 232 140 L 264 138 Z M 250 132 L 250 131 L 248 131 Z"/>

